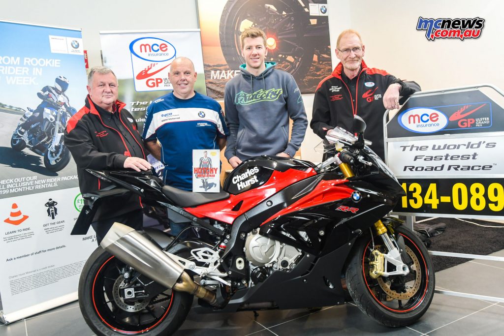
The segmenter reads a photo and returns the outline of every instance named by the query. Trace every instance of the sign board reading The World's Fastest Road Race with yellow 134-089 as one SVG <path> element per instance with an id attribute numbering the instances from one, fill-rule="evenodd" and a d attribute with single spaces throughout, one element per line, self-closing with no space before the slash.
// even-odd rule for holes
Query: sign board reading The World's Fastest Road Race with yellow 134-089
<path id="1" fill-rule="evenodd" d="M 484 89 L 484 90 L 482 90 Z M 394 213 L 504 219 L 504 109 L 491 86 L 420 92 L 387 124 Z"/>

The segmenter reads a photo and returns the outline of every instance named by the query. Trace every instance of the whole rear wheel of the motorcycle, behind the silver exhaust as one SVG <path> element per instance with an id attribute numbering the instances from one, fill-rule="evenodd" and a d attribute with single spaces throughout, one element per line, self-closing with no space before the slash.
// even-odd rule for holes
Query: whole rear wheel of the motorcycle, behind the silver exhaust
<path id="1" fill-rule="evenodd" d="M 166 290 L 152 299 L 124 299 L 124 270 L 129 266 L 98 247 L 79 280 L 84 320 L 99 336 L 170 335 L 187 316 L 193 296 Z"/>

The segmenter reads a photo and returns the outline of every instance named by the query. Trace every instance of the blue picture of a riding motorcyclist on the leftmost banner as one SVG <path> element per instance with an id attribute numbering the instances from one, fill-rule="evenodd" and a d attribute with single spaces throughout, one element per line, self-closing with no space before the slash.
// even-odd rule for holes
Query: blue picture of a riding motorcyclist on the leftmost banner
<path id="1" fill-rule="evenodd" d="M 81 32 L 7 21 L 0 30 L 0 199 L 76 187 L 63 133 L 87 94 Z"/>

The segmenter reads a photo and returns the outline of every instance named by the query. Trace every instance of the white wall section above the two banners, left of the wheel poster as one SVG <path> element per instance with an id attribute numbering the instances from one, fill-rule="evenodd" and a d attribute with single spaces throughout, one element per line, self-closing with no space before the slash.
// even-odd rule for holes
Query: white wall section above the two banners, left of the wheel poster
<path id="1" fill-rule="evenodd" d="M 102 30 L 199 28 L 196 0 L 9 0 L 0 19 L 81 28 L 90 68 L 102 65 Z"/>

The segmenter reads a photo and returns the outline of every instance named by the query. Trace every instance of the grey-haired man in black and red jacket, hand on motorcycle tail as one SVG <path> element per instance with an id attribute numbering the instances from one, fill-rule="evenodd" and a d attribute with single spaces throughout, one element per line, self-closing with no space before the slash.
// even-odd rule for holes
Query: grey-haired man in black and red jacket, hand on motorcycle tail
<path id="1" fill-rule="evenodd" d="M 81 193 L 94 192 L 110 185 L 85 169 L 136 171 L 151 168 L 146 161 L 137 122 L 117 100 L 117 78 L 105 66 L 92 68 L 88 76 L 86 103 L 67 123 L 65 145 L 77 164 Z M 134 194 L 104 199 L 92 226 L 98 244 L 114 222 L 142 230 L 140 197 Z"/>

